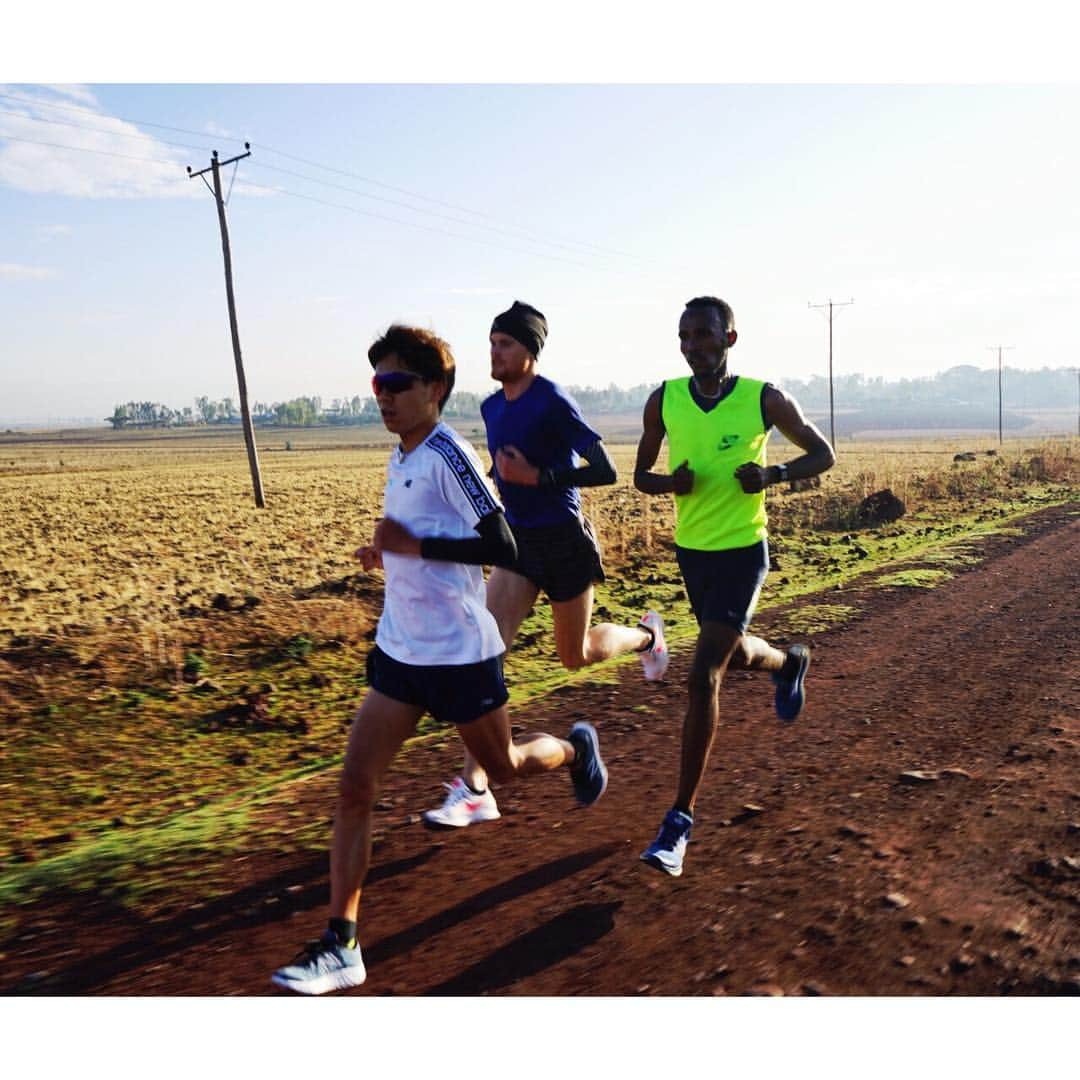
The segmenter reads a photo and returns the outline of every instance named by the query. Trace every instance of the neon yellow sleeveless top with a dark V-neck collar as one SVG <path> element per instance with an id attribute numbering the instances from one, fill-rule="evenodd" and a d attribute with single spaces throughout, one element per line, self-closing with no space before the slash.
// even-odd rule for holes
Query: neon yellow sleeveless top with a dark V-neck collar
<path id="1" fill-rule="evenodd" d="M 734 477 L 746 461 L 765 467 L 769 433 L 761 416 L 765 383 L 740 375 L 708 413 L 690 396 L 690 378 L 664 383 L 660 415 L 672 472 L 684 461 L 693 490 L 675 496 L 675 543 L 694 551 L 750 548 L 767 536 L 765 492 L 747 495 Z"/>

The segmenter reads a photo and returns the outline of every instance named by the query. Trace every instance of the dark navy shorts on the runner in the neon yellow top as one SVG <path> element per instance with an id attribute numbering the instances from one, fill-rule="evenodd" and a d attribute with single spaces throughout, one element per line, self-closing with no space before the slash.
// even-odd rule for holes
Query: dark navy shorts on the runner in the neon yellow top
<path id="1" fill-rule="evenodd" d="M 745 634 L 769 572 L 768 541 L 728 551 L 676 548 L 675 555 L 698 625 L 723 622 Z"/>

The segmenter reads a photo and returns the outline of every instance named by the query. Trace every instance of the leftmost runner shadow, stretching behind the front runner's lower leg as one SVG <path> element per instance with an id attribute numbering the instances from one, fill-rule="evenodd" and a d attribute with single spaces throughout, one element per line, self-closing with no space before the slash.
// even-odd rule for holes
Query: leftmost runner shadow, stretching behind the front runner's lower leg
<path id="1" fill-rule="evenodd" d="M 426 848 L 408 859 L 375 866 L 367 876 L 367 883 L 415 869 L 440 850 L 438 847 Z M 211 942 L 224 933 L 287 919 L 294 912 L 329 902 L 328 873 L 328 856 L 322 855 L 302 866 L 219 896 L 202 907 L 185 910 L 175 918 L 144 921 L 127 941 L 58 969 L 32 985 L 18 984 L 0 991 L 0 995 L 86 994 L 118 975 L 150 963 L 160 963 L 165 957 Z M 273 903 L 267 904 L 270 899 Z M 124 913 L 124 917 L 130 919 L 130 913 Z"/>

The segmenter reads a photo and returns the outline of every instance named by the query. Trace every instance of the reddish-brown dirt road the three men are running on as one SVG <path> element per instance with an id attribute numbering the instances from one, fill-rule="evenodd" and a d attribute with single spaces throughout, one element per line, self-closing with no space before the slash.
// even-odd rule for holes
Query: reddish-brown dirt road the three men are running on
<path id="1" fill-rule="evenodd" d="M 499 792 L 502 821 L 431 834 L 409 816 L 458 744 L 403 757 L 352 993 L 1080 993 L 1080 519 L 1026 525 L 944 586 L 831 592 L 859 613 L 811 638 L 794 725 L 774 718 L 767 678 L 728 679 L 677 880 L 637 855 L 674 794 L 687 649 L 665 685 L 627 665 L 523 717 L 597 723 L 611 782 L 592 810 L 543 777 Z M 296 805 L 328 818 L 335 781 L 295 785 Z M 231 895 L 183 886 L 175 913 L 146 922 L 82 897 L 28 906 L 5 993 L 272 993 L 273 968 L 324 924 L 326 861 L 256 838 L 230 872 Z"/>

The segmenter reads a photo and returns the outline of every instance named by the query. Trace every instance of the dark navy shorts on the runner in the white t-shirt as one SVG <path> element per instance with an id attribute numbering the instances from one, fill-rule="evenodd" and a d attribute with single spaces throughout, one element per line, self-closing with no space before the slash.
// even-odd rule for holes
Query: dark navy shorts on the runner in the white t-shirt
<path id="1" fill-rule="evenodd" d="M 441 724 L 469 724 L 504 705 L 502 657 L 475 664 L 403 664 L 377 645 L 367 654 L 367 685 L 406 705 L 418 705 Z"/>

